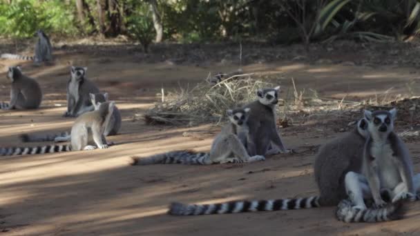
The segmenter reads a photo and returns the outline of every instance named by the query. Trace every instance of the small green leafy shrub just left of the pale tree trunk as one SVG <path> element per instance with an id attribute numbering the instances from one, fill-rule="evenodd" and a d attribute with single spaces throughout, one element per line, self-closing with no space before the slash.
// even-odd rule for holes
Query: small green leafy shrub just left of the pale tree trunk
<path id="1" fill-rule="evenodd" d="M 142 44 L 144 52 L 148 52 L 149 45 L 155 38 L 153 19 L 147 6 L 139 6 L 127 21 L 127 32 L 130 37 Z"/>

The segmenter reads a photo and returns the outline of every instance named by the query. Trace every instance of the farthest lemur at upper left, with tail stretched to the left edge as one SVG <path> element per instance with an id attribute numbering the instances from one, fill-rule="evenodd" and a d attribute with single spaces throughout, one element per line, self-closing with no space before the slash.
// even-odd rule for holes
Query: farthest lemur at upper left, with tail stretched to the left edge
<path id="1" fill-rule="evenodd" d="M 35 61 L 35 63 L 53 61 L 53 47 L 51 46 L 48 36 L 42 30 L 37 30 L 34 36 L 38 37 L 37 43 L 35 43 L 35 56 L 28 57 L 4 53 L 1 55 L 1 58 Z"/>

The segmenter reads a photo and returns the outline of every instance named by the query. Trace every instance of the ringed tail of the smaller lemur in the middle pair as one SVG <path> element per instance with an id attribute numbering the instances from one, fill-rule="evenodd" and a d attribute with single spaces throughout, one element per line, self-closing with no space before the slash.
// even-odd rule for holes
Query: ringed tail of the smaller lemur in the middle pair
<path id="1" fill-rule="evenodd" d="M 131 157 L 132 166 L 144 166 L 151 164 L 184 164 L 184 165 L 209 165 L 212 164 L 209 153 L 195 153 L 189 150 L 173 151 L 153 155 L 151 157 Z"/>

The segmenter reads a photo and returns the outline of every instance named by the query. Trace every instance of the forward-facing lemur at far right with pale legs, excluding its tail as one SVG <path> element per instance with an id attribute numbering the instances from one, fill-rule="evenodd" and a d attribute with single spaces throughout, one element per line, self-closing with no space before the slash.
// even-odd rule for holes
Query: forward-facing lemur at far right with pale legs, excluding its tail
<path id="1" fill-rule="evenodd" d="M 363 199 L 372 197 L 377 207 L 386 203 L 381 192 L 388 193 L 392 202 L 415 200 L 420 190 L 420 175 L 413 176 L 408 148 L 394 133 L 397 110 L 365 110 L 367 140 L 363 148 L 361 173 L 348 173 L 346 184 L 354 208 L 365 209 Z"/>

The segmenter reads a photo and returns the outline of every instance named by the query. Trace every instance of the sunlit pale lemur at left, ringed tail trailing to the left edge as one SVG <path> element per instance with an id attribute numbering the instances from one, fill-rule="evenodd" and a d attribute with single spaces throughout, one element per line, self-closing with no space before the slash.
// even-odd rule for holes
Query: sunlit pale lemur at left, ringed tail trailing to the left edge
<path id="1" fill-rule="evenodd" d="M 65 145 L 46 145 L 23 148 L 0 148 L 0 156 L 34 155 L 44 153 L 68 152 L 70 150 L 93 150 L 95 148 L 108 148 L 104 131 L 111 119 L 114 110 L 114 101 L 106 101 L 98 110 L 86 112 L 77 117 L 71 128 L 71 142 Z M 92 132 L 95 146 L 88 145 L 88 130 Z"/>

